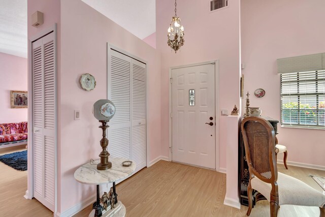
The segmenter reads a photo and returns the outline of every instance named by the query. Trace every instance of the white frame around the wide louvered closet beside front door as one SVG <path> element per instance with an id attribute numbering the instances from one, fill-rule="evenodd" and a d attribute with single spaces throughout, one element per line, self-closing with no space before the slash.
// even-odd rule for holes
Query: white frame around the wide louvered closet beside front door
<path id="1" fill-rule="evenodd" d="M 135 55 L 133 55 L 133 54 L 131 54 L 131 53 L 125 51 L 125 50 L 122 50 L 122 49 L 110 44 L 109 42 L 107 42 L 107 99 L 108 99 L 108 96 L 109 96 L 109 94 L 108 94 L 109 87 L 111 86 L 111 80 L 110 80 L 110 78 L 108 76 L 110 74 L 109 69 L 111 68 L 111 60 L 109 58 L 110 53 L 111 53 L 111 49 L 116 50 L 117 52 L 120 52 L 120 53 L 122 53 L 122 54 L 124 54 L 126 56 L 129 56 L 131 58 L 134 58 L 134 59 L 146 64 L 146 167 L 149 167 L 149 165 L 150 165 L 149 164 L 149 153 L 150 153 L 149 149 L 150 149 L 150 147 L 148 145 L 149 140 L 148 140 L 148 131 L 147 131 L 147 129 L 148 129 L 148 103 L 147 103 L 148 102 L 148 88 L 147 88 L 148 83 L 147 83 L 147 76 L 148 76 L 148 72 L 149 72 L 149 70 L 148 70 L 149 69 L 148 61 L 146 61 L 146 60 L 144 60 L 144 59 L 142 59 L 142 58 L 140 58 L 138 56 L 135 56 Z M 131 121 L 131 125 L 132 125 L 132 121 Z"/>

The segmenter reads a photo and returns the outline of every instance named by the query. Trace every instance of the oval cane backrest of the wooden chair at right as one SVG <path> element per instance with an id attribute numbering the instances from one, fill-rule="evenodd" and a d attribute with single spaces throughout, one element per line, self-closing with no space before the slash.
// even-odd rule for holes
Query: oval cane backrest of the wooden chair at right
<path id="1" fill-rule="evenodd" d="M 249 172 L 262 181 L 274 183 L 278 172 L 274 129 L 262 117 L 246 117 L 241 123 Z"/>

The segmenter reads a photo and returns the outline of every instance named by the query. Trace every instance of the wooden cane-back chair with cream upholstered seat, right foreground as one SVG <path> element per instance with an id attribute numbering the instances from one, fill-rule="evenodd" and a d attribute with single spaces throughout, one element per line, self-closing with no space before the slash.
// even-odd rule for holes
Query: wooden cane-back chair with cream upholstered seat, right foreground
<path id="1" fill-rule="evenodd" d="M 261 117 L 247 117 L 241 123 L 246 159 L 250 173 L 247 215 L 252 210 L 253 189 L 270 202 L 271 217 L 280 205 L 318 206 L 325 217 L 325 195 L 294 177 L 278 173 L 275 159 L 275 134 L 271 124 Z"/>

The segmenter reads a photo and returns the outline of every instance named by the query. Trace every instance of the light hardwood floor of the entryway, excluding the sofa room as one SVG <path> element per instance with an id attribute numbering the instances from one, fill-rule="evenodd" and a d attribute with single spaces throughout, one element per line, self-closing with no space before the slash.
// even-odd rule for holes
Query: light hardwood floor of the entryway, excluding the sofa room
<path id="1" fill-rule="evenodd" d="M 321 191 L 308 174 L 325 176 L 325 171 L 278 165 L 279 172 L 297 177 Z M 159 161 L 117 184 L 118 200 L 126 216 L 246 216 L 247 207 L 223 205 L 226 176 L 212 170 Z M 281 207 L 281 211 L 286 207 Z M 250 216 L 270 216 L 268 201 L 258 201 Z M 317 207 L 314 208 L 319 213 Z M 88 206 L 75 216 L 88 216 Z M 301 208 L 301 216 L 318 216 Z M 284 213 L 284 215 L 283 215 Z M 281 216 L 295 216 L 282 212 Z"/>

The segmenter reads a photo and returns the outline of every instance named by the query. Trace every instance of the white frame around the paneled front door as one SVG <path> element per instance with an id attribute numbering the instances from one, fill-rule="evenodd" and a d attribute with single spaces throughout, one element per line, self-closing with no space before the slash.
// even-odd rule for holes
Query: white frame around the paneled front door
<path id="1" fill-rule="evenodd" d="M 169 78 L 172 78 L 172 70 L 173 69 L 180 69 L 180 68 L 186 68 L 186 67 L 193 67 L 193 66 L 202 66 L 202 65 L 208 65 L 208 64 L 214 64 L 214 70 L 215 70 L 215 169 L 219 172 L 219 60 L 214 61 L 207 61 L 204 63 L 197 63 L 197 64 L 189 64 L 189 65 L 183 65 L 183 66 L 176 66 L 176 67 L 170 67 L 169 68 Z M 169 161 L 172 161 L 172 83 L 169 82 Z"/>

